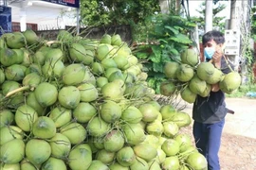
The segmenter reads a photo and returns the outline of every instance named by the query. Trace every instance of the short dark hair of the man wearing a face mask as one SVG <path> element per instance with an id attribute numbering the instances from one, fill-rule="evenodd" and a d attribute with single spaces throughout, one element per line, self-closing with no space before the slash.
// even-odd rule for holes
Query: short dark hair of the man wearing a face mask
<path id="1" fill-rule="evenodd" d="M 224 43 L 225 37 L 222 32 L 217 30 L 211 30 L 203 35 L 203 38 L 202 38 L 203 45 L 211 40 L 213 40 L 217 44 Z"/>

